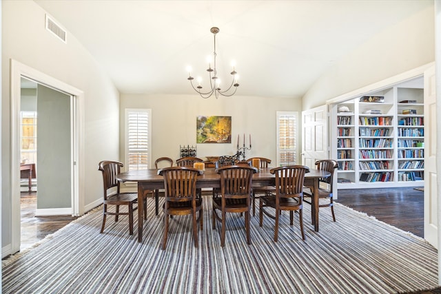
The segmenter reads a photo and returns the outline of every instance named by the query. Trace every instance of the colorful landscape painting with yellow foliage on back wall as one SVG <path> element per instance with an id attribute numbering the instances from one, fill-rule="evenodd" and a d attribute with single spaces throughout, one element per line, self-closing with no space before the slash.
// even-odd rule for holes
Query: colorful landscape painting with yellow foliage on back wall
<path id="1" fill-rule="evenodd" d="M 196 143 L 232 143 L 232 117 L 197 116 Z"/>

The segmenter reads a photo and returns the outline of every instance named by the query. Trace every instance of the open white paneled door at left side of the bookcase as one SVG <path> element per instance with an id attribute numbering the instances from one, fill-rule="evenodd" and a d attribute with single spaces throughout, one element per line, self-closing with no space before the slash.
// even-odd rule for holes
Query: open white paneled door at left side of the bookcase
<path id="1" fill-rule="evenodd" d="M 328 158 L 327 105 L 302 112 L 302 165 L 314 168 L 314 162 Z"/>

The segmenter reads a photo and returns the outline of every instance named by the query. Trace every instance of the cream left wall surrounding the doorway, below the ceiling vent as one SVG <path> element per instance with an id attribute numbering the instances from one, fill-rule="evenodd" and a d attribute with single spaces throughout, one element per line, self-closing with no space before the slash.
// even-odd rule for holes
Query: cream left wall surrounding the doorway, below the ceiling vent
<path id="1" fill-rule="evenodd" d="M 98 162 L 119 159 L 119 92 L 81 43 L 65 44 L 45 30 L 45 12 L 34 1 L 1 1 L 1 239 L 11 242 L 10 59 L 84 92 L 84 203 L 102 198 Z M 63 25 L 61 23 L 61 25 Z"/>

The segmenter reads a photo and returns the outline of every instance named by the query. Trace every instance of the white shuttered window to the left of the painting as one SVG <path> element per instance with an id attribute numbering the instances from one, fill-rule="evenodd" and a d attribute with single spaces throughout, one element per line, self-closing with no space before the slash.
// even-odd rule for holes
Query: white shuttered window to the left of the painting
<path id="1" fill-rule="evenodd" d="M 127 170 L 150 167 L 151 109 L 125 109 L 125 166 Z"/>

